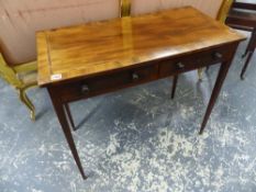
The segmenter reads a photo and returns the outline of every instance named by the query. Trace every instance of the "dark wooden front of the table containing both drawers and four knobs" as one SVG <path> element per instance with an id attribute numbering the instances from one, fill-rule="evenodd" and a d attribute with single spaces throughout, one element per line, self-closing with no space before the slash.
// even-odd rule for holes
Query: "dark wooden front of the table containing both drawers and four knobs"
<path id="1" fill-rule="evenodd" d="M 230 60 L 236 44 L 222 45 L 175 59 L 151 63 L 145 67 L 114 71 L 69 83 L 53 84 L 52 88 L 59 93 L 63 102 L 91 98 Z M 181 68 L 178 66 L 180 63 L 182 64 Z"/>

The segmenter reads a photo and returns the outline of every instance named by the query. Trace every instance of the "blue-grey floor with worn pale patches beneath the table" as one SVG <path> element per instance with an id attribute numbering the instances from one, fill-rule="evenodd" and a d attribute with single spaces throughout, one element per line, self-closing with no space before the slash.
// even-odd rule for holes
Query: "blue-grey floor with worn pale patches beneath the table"
<path id="1" fill-rule="evenodd" d="M 245 45 L 202 136 L 198 131 L 219 66 L 202 82 L 196 71 L 180 76 L 175 100 L 171 79 L 164 79 L 71 103 L 86 181 L 46 90 L 30 91 L 37 110 L 33 123 L 0 80 L 0 191 L 255 192 L 256 66 L 240 80 Z"/>

